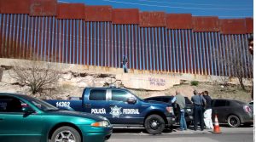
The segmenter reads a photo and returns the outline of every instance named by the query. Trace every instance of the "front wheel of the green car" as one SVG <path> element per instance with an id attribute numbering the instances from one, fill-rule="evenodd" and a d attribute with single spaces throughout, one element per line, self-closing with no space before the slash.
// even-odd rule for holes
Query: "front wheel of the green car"
<path id="1" fill-rule="evenodd" d="M 59 141 L 81 142 L 81 136 L 76 129 L 64 126 L 57 128 L 50 138 L 50 142 Z"/>

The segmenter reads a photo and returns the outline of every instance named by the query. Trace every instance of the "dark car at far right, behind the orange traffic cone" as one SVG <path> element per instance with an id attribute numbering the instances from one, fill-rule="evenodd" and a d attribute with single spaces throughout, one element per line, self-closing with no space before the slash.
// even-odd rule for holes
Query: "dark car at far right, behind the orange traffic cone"
<path id="1" fill-rule="evenodd" d="M 219 123 L 227 123 L 231 128 L 253 124 L 253 105 L 239 100 L 212 99 L 212 122 L 216 114 Z"/>

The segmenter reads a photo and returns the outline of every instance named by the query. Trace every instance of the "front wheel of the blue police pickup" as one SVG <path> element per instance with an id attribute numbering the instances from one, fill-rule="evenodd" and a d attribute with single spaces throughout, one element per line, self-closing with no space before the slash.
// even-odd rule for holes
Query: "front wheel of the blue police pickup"
<path id="1" fill-rule="evenodd" d="M 165 129 L 165 121 L 159 115 L 148 116 L 144 125 L 147 132 L 150 134 L 160 134 Z"/>

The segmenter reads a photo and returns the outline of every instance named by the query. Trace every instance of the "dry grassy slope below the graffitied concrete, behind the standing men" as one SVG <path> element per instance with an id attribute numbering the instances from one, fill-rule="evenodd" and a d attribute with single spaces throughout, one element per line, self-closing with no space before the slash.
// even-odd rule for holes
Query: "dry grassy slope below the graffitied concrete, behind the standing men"
<path id="1" fill-rule="evenodd" d="M 223 88 L 221 85 L 211 82 L 199 82 L 198 86 L 191 86 L 189 83 L 169 88 L 166 91 L 143 91 L 143 90 L 131 90 L 134 94 L 137 94 L 140 98 L 147 98 L 157 95 L 174 95 L 176 90 L 179 90 L 184 96 L 188 96 L 189 99 L 193 95 L 193 91 L 196 89 L 198 92 L 207 90 L 212 99 L 238 99 L 244 102 L 250 102 L 251 89 L 247 87 L 247 91 L 241 90 L 239 86 L 229 85 Z"/>

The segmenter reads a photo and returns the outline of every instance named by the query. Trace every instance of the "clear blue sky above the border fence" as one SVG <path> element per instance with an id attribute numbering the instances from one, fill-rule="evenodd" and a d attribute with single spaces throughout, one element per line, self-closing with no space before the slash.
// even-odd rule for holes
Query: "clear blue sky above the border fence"
<path id="1" fill-rule="evenodd" d="M 218 16 L 219 19 L 253 17 L 253 0 L 58 0 L 58 2 L 110 5 L 113 9 L 164 11 L 168 14 Z"/>

